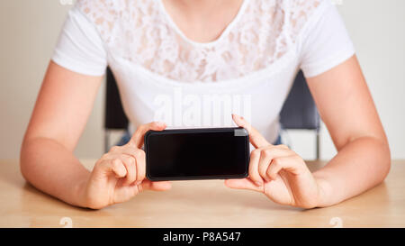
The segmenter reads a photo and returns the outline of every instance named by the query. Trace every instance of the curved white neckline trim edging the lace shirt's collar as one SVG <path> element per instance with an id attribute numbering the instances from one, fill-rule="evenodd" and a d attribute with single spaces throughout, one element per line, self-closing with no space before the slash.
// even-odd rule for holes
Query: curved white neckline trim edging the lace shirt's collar
<path id="1" fill-rule="evenodd" d="M 177 32 L 177 34 L 180 35 L 180 37 L 182 37 L 182 39 L 184 39 L 184 41 L 187 41 L 187 42 L 193 44 L 194 46 L 207 47 L 207 46 L 212 46 L 212 45 L 216 44 L 217 42 L 220 42 L 222 39 L 224 39 L 224 37 L 227 35 L 228 32 L 230 32 L 232 27 L 236 23 L 238 23 L 238 20 L 240 19 L 240 16 L 243 15 L 243 13 L 245 13 L 245 9 L 247 8 L 248 0 L 243 0 L 242 5 L 240 5 L 240 7 L 238 9 L 238 14 L 225 27 L 224 31 L 220 33 L 220 36 L 217 39 L 215 39 L 214 41 L 209 41 L 209 42 L 193 41 L 193 40 L 189 39 L 187 36 L 185 36 L 184 32 L 178 27 L 178 25 L 172 19 L 170 14 L 167 13 L 166 7 L 163 4 L 163 0 L 157 0 L 157 2 L 158 2 L 158 5 L 159 5 L 159 8 L 160 8 L 160 12 L 162 12 L 163 15 L 165 15 L 165 18 L 166 18 L 167 22 L 171 25 L 171 27 L 175 30 L 175 32 Z"/>

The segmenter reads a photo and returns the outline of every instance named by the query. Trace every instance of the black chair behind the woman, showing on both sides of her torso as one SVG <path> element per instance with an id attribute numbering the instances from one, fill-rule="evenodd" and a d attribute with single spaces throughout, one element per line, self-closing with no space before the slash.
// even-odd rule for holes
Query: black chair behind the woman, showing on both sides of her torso
<path id="1" fill-rule="evenodd" d="M 104 150 L 110 145 L 110 132 L 126 130 L 128 118 L 123 112 L 120 93 L 110 68 L 106 72 L 106 100 L 104 114 Z M 316 132 L 316 158 L 320 159 L 320 114 L 312 99 L 305 77 L 300 71 L 280 113 L 280 123 L 284 130 L 305 129 Z"/>

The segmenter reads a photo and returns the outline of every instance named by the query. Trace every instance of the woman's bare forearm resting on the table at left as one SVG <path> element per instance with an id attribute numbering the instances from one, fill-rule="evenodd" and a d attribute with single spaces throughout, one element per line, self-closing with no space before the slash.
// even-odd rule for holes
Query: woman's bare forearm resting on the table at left
<path id="1" fill-rule="evenodd" d="M 71 205 L 85 206 L 85 182 L 90 172 L 57 141 L 35 138 L 23 142 L 23 177 L 34 187 Z"/>

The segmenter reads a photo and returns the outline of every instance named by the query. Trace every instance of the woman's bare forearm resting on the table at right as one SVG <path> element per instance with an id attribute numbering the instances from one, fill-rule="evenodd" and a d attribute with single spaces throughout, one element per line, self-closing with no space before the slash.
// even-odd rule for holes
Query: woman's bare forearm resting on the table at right
<path id="1" fill-rule="evenodd" d="M 372 137 L 350 141 L 313 173 L 320 185 L 319 206 L 335 205 L 381 183 L 391 166 L 388 143 Z"/>

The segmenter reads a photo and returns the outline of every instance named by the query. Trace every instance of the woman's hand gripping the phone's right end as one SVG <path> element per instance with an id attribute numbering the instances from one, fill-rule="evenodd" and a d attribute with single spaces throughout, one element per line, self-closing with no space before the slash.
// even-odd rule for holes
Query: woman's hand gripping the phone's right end
<path id="1" fill-rule="evenodd" d="M 231 188 L 263 192 L 275 203 L 312 208 L 319 205 L 322 190 L 318 180 L 302 158 L 284 145 L 272 145 L 247 123 L 234 114 L 238 126 L 249 132 L 250 142 L 257 148 L 250 154 L 249 177 L 225 180 Z"/>

